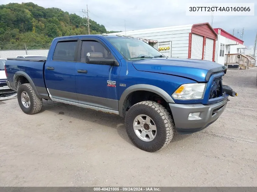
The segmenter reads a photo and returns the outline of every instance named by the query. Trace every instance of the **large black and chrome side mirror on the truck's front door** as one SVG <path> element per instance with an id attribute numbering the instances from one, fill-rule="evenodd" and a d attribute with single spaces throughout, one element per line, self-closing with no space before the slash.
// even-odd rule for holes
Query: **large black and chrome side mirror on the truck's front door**
<path id="1" fill-rule="evenodd" d="M 88 52 L 86 54 L 86 63 L 119 66 L 119 62 L 116 61 L 116 59 L 106 59 L 103 57 L 103 54 L 99 52 Z"/>

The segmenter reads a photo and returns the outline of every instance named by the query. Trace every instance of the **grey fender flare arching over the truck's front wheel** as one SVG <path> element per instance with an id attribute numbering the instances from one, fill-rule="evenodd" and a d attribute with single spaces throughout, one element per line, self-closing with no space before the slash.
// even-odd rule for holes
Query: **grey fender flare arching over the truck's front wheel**
<path id="1" fill-rule="evenodd" d="M 119 100 L 119 115 L 123 116 L 122 113 L 122 108 L 123 108 L 123 104 L 125 102 L 125 100 L 127 99 L 127 97 L 130 95 L 130 93 L 134 92 L 134 91 L 150 91 L 153 93 L 158 94 L 159 96 L 161 96 L 167 103 L 175 103 L 172 99 L 172 97 L 163 89 L 156 87 L 154 85 L 148 85 L 148 84 L 137 84 L 137 85 L 132 85 L 130 87 L 128 87 L 127 89 L 125 89 L 122 93 L 122 95 L 120 96 L 120 100 Z"/>

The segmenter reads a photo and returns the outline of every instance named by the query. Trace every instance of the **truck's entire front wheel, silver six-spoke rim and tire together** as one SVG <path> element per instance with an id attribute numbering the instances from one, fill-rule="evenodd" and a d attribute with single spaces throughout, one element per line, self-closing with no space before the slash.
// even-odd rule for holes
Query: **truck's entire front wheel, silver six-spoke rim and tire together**
<path id="1" fill-rule="evenodd" d="M 130 107 L 125 125 L 132 143 L 144 151 L 158 151 L 173 137 L 172 117 L 167 109 L 153 101 L 142 101 Z"/>

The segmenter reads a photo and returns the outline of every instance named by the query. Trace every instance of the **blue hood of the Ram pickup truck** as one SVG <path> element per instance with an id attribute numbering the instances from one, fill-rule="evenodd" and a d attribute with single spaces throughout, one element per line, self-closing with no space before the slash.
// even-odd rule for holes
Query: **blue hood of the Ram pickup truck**
<path id="1" fill-rule="evenodd" d="M 132 65 L 138 71 L 182 76 L 198 82 L 208 81 L 211 74 L 227 69 L 226 66 L 212 61 L 178 58 L 144 59 L 132 62 Z"/>

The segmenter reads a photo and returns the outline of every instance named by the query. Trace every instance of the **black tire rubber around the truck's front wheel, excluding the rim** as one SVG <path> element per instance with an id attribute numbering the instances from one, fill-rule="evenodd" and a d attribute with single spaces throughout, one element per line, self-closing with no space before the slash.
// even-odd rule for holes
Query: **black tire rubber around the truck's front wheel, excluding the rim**
<path id="1" fill-rule="evenodd" d="M 141 140 L 134 131 L 134 119 L 141 114 L 149 116 L 155 122 L 157 132 L 151 141 Z M 132 143 L 139 149 L 148 152 L 158 151 L 168 145 L 172 140 L 175 127 L 167 109 L 153 101 L 142 101 L 130 107 L 125 117 L 125 126 Z"/>

